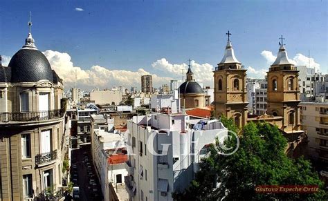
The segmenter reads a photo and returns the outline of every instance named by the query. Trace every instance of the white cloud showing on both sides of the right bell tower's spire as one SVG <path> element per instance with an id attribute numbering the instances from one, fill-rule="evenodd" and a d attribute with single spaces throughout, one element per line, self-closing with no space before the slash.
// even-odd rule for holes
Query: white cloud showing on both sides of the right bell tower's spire
<path id="1" fill-rule="evenodd" d="M 266 59 L 266 62 L 268 64 L 272 64 L 273 61 L 275 61 L 275 58 L 277 56 L 273 55 L 271 51 L 263 50 L 261 52 L 261 55 Z M 295 66 L 307 66 L 309 68 L 316 68 L 316 70 L 320 69 L 320 64 L 316 63 L 312 57 L 307 57 L 302 55 L 301 53 L 298 53 L 293 57 L 293 59 L 289 59 L 292 64 Z M 310 61 L 310 62 L 309 62 Z"/>

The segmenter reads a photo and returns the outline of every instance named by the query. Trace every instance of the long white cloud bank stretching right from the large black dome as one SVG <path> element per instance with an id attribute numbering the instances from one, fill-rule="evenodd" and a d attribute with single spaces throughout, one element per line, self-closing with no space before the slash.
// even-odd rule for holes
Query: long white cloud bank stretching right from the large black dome
<path id="1" fill-rule="evenodd" d="M 137 86 L 140 89 L 141 75 L 152 75 L 153 86 L 158 87 L 162 84 L 169 84 L 171 77 L 158 77 L 139 68 L 137 71 L 131 70 L 109 70 L 102 66 L 92 66 L 88 70 L 83 70 L 80 67 L 74 66 L 71 57 L 66 52 L 57 52 L 46 50 L 43 52 L 49 60 L 51 67 L 64 80 L 65 88 L 71 88 L 75 84 L 75 71 L 77 74 L 78 87 L 90 90 L 94 86 L 100 88 L 110 88 L 113 85 Z"/>

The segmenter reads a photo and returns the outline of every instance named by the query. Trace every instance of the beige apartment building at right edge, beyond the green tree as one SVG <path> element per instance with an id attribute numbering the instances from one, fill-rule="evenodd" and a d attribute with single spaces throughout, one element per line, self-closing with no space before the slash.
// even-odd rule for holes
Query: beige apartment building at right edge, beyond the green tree
<path id="1" fill-rule="evenodd" d="M 301 102 L 302 130 L 307 132 L 307 155 L 328 162 L 328 104 Z"/>

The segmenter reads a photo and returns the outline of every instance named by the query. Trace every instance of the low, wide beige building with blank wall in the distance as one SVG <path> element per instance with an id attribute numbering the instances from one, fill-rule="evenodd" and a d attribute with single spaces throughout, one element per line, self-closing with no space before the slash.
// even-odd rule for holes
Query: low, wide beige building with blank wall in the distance
<path id="1" fill-rule="evenodd" d="M 122 90 L 92 90 L 90 100 L 95 104 L 118 105 L 122 102 Z"/>

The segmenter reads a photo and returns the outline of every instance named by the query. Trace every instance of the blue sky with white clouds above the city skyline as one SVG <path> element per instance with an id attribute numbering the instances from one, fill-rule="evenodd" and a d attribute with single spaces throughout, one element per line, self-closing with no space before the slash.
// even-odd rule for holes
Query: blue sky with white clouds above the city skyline
<path id="1" fill-rule="evenodd" d="M 264 78 L 280 36 L 289 59 L 328 73 L 327 1 L 1 1 L 0 54 L 6 65 L 32 35 L 66 89 L 154 87 L 182 79 L 188 59 L 197 82 L 213 86 L 226 32 L 248 77 Z M 310 53 L 310 57 L 309 57 Z M 310 61 L 310 62 L 309 62 Z M 309 65 L 310 64 L 310 65 Z"/>

